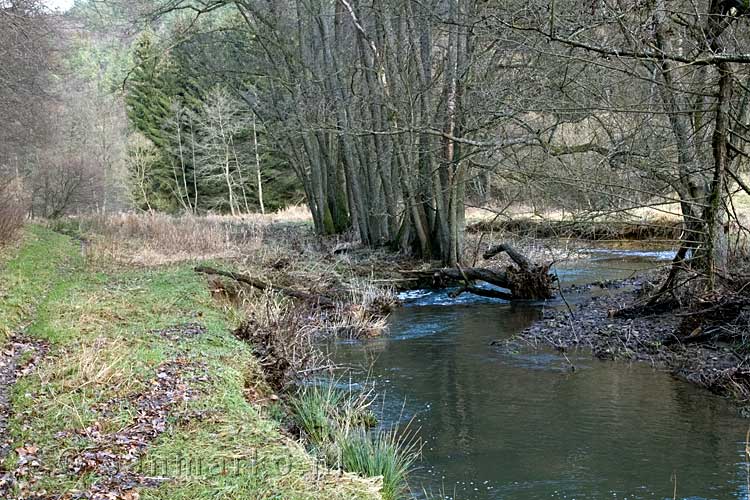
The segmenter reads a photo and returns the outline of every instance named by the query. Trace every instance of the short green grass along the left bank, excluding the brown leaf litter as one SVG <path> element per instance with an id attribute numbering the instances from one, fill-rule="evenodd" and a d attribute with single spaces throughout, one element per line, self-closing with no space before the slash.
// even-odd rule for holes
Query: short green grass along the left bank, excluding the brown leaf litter
<path id="1" fill-rule="evenodd" d="M 44 286 L 36 281 L 41 275 Z M 318 467 L 246 399 L 248 387 L 270 392 L 250 346 L 231 334 L 231 313 L 213 301 L 192 266 L 94 268 L 67 237 L 32 228 L 0 270 L 0 280 L 8 279 L 21 289 L 10 292 L 17 306 L 2 314 L 11 311 L 14 324 L 29 322 L 27 334 L 49 343 L 48 355 L 13 388 L 14 448 L 38 447 L 41 463 L 17 496 L 64 496 L 106 479 L 61 464 L 95 449 L 94 434 L 133 425 L 133 397 L 153 387 L 163 363 L 179 362 L 193 397 L 170 407 L 164 432 L 133 464 L 170 480 L 141 489 L 140 498 L 379 497 L 377 481 Z M 199 323 L 204 333 L 174 340 L 155 332 L 185 323 Z M 13 470 L 18 461 L 11 453 L 4 466 Z"/>

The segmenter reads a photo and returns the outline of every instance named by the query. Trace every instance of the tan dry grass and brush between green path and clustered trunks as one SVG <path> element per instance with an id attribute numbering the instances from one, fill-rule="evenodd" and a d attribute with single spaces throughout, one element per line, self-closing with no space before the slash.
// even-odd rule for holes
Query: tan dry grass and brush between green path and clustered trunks
<path id="1" fill-rule="evenodd" d="M 334 309 L 322 311 L 229 279 L 209 281 L 211 290 L 230 299 L 253 328 L 278 330 L 292 345 L 301 345 L 292 334 L 317 338 L 382 333 L 396 303 L 395 292 L 373 285 L 369 278 L 370 266 L 383 256 L 361 249 L 337 254 L 334 250 L 342 240 L 316 237 L 308 224 L 300 224 L 308 219 L 306 209 L 292 207 L 265 216 L 123 214 L 76 222 L 78 234 L 88 242 L 85 252 L 90 262 L 162 266 L 220 260 L 224 267 L 266 283 L 334 300 Z M 306 369 L 310 362 L 293 364 Z"/>

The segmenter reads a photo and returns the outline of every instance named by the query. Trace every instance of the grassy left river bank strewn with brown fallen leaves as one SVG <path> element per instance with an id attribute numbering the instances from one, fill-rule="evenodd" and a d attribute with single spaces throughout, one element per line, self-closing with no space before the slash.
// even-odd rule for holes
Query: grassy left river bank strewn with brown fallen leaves
<path id="1" fill-rule="evenodd" d="M 139 266 L 82 241 L 31 226 L 0 266 L 0 496 L 380 497 L 285 431 L 241 319 L 194 261 Z"/>

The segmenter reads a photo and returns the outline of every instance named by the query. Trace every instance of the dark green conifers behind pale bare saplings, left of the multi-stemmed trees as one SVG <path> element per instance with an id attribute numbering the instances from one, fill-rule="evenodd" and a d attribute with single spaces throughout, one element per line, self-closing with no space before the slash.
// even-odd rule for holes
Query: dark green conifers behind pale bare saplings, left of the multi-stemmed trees
<path id="1" fill-rule="evenodd" d="M 217 60 L 227 61 L 224 49 L 244 43 L 225 22 L 233 21 L 186 28 L 177 16 L 165 21 L 161 29 L 184 37 L 184 42 L 166 50 L 149 29 L 133 46 L 126 102 L 132 128 L 147 137 L 161 156 L 153 166 L 151 178 L 158 181 L 151 183 L 155 192 L 149 197 L 164 204 L 154 208 L 238 214 L 263 211 L 266 202 L 278 208 L 299 199 L 291 173 L 284 172 L 278 159 L 269 158 L 275 154 L 272 149 L 259 144 L 267 138 L 265 128 L 258 127 L 257 117 L 255 129 L 251 126 L 250 110 L 238 86 L 227 87 L 227 82 L 241 81 L 239 87 L 245 89 L 251 79 L 237 72 L 233 79 L 224 79 L 205 70 Z M 186 37 L 184 29 L 191 36 Z M 226 107 L 230 103 L 232 109 Z M 231 137 L 222 136 L 227 129 L 233 130 Z M 231 144 L 220 145 L 224 140 Z M 227 152 L 229 160 L 225 161 Z M 261 162 L 266 165 L 262 171 Z M 250 171 L 251 164 L 255 172 Z"/>

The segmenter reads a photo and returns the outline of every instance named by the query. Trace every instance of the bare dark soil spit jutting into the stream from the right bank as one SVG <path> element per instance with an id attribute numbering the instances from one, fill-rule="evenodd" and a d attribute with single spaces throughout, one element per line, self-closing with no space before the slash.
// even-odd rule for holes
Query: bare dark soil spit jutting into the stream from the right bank
<path id="1" fill-rule="evenodd" d="M 750 353 L 719 341 L 683 343 L 684 337 L 676 333 L 680 311 L 636 318 L 614 316 L 634 304 L 646 284 L 646 279 L 608 283 L 607 293 L 583 299 L 570 309 L 549 309 L 517 337 L 495 345 L 517 349 L 546 344 L 561 352 L 590 349 L 600 359 L 647 362 L 731 398 L 741 413 L 750 416 Z"/>

